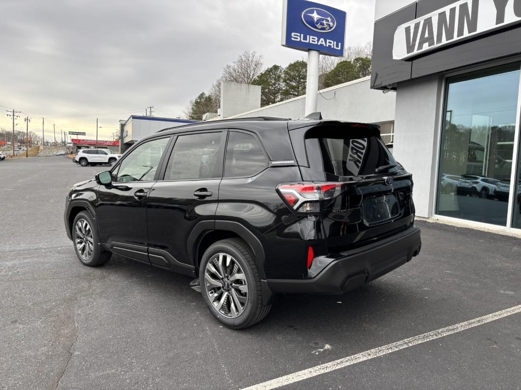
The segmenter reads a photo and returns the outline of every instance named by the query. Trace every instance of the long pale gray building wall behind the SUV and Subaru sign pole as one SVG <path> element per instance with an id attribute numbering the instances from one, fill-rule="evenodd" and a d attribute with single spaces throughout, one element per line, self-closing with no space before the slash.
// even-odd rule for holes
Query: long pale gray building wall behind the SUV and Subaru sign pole
<path id="1" fill-rule="evenodd" d="M 370 77 L 322 89 L 318 94 L 317 110 L 324 119 L 377 123 L 394 120 L 396 94 L 383 94 L 370 89 Z M 232 118 L 247 116 L 282 116 L 304 118 L 305 96 L 282 101 L 271 106 L 244 112 Z"/>

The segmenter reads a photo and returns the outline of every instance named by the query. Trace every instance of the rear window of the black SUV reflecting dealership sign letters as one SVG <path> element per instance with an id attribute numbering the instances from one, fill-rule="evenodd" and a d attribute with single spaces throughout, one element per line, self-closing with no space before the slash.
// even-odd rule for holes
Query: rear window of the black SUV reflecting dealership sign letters
<path id="1" fill-rule="evenodd" d="M 374 128 L 315 127 L 306 133 L 306 152 L 313 169 L 337 176 L 374 175 L 379 167 L 397 165 Z M 381 174 L 398 170 L 393 166 Z"/>

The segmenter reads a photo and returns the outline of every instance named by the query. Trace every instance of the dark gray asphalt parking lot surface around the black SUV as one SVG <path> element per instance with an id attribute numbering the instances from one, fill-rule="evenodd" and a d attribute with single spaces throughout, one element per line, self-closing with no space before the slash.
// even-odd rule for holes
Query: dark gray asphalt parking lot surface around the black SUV
<path id="1" fill-rule="evenodd" d="M 301 370 L 280 388 L 521 388 L 518 311 L 308 370 L 520 305 L 521 239 L 418 222 L 423 248 L 410 263 L 344 296 L 281 296 L 264 321 L 233 331 L 188 277 L 119 256 L 81 265 L 65 194 L 106 169 L 66 157 L 0 162 L 1 389 L 266 389 Z"/>

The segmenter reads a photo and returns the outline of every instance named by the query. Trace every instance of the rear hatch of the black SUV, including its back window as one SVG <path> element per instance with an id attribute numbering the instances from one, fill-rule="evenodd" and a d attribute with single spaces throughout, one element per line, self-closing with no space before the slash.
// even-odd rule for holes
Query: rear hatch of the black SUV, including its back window
<path id="1" fill-rule="evenodd" d="M 330 253 L 378 241 L 411 226 L 411 174 L 397 163 L 379 127 L 332 122 L 290 131 L 305 183 L 321 192 L 320 215 Z"/>

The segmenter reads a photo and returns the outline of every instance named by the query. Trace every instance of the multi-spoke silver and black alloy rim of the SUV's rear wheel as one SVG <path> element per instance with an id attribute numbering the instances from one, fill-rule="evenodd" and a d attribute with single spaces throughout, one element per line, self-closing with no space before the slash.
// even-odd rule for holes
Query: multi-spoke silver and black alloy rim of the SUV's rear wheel
<path id="1" fill-rule="evenodd" d="M 246 276 L 239 263 L 227 253 L 217 253 L 209 259 L 204 274 L 214 308 L 227 318 L 239 317 L 248 301 Z"/>

